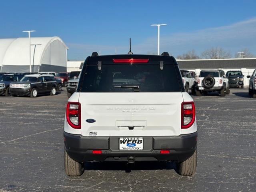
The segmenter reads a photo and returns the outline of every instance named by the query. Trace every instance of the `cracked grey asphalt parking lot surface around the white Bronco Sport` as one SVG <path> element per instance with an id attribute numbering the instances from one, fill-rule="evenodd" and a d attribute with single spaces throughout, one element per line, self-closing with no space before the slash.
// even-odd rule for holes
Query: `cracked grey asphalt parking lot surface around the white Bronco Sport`
<path id="1" fill-rule="evenodd" d="M 63 165 L 66 90 L 56 96 L 0 97 L 0 192 L 6 191 L 255 191 L 256 99 L 248 89 L 193 96 L 198 166 L 179 176 L 174 164 L 86 163 L 82 176 Z"/>

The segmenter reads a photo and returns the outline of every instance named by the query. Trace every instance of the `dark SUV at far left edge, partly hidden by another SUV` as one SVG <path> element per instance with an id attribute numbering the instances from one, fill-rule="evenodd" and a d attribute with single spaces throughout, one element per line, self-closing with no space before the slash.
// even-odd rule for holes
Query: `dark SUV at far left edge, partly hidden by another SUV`
<path id="1" fill-rule="evenodd" d="M 10 83 L 12 81 L 19 81 L 24 74 L 3 74 L 0 76 L 0 95 L 10 96 Z"/>

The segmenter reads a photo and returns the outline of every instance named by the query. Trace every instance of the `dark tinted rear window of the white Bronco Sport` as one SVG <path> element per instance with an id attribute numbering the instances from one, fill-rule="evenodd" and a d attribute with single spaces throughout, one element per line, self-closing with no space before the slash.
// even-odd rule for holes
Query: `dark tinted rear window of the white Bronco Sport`
<path id="1" fill-rule="evenodd" d="M 82 78 L 80 78 L 82 80 Z M 139 86 L 140 92 L 180 92 L 174 65 L 108 64 L 98 70 L 87 65 L 81 92 L 133 92 L 120 86 Z"/>

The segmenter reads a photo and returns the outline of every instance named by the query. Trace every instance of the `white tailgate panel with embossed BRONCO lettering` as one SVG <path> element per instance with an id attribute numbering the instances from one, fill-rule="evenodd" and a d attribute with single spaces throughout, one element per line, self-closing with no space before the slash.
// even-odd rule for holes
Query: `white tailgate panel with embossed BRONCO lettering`
<path id="1" fill-rule="evenodd" d="M 82 136 L 181 134 L 181 92 L 81 92 L 79 102 Z"/>

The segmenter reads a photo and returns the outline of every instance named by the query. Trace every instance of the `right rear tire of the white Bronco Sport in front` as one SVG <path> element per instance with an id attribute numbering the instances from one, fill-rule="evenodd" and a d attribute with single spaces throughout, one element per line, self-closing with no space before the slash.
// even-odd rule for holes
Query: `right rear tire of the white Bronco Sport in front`
<path id="1" fill-rule="evenodd" d="M 197 165 L 197 149 L 194 154 L 183 162 L 176 162 L 176 172 L 179 175 L 191 176 L 196 173 L 196 165 Z"/>

